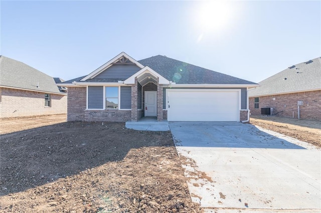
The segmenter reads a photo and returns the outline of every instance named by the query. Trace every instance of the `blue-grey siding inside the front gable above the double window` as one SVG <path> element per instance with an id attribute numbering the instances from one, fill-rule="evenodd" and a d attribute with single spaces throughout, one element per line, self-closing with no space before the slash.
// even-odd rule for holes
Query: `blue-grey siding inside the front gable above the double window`
<path id="1" fill-rule="evenodd" d="M 116 78 L 125 80 L 139 70 L 140 68 L 136 65 L 114 64 L 94 78 Z"/>

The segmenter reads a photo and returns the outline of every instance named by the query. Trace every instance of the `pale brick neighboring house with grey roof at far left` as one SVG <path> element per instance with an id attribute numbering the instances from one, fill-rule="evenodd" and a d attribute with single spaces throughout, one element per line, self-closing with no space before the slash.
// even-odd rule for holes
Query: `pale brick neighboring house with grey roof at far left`
<path id="1" fill-rule="evenodd" d="M 67 113 L 66 88 L 23 62 L 0 56 L 1 118 L 60 113 Z"/>

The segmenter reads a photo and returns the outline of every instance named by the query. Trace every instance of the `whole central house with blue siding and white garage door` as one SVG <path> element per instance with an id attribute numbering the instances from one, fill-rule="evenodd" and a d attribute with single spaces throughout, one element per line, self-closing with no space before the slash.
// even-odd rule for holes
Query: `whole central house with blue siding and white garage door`
<path id="1" fill-rule="evenodd" d="M 248 119 L 247 89 L 258 84 L 156 55 L 135 60 L 121 52 L 68 87 L 68 120 L 169 121 Z"/>

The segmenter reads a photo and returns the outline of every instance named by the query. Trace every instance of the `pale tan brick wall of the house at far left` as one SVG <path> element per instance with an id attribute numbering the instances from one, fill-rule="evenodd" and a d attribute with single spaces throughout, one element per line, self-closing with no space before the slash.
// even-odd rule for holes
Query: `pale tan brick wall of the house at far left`
<path id="1" fill-rule="evenodd" d="M 45 92 L 0 87 L 0 117 L 66 113 L 67 95 L 50 95 L 51 107 L 45 107 Z"/>

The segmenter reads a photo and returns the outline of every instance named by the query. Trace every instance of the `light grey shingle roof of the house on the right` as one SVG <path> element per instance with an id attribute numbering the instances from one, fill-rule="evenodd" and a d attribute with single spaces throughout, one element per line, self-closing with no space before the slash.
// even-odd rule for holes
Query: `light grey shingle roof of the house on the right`
<path id="1" fill-rule="evenodd" d="M 249 89 L 249 96 L 293 93 L 321 89 L 321 57 L 291 65 Z"/>

